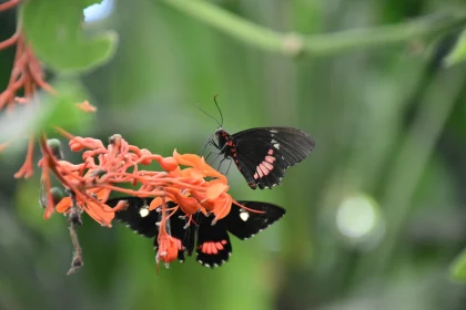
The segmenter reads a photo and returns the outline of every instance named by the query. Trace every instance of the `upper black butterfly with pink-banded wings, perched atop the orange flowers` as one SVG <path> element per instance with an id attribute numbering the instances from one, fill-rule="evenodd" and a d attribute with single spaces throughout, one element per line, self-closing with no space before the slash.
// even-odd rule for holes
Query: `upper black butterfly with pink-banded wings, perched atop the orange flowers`
<path id="1" fill-rule="evenodd" d="M 307 157 L 314 140 L 292 127 L 260 127 L 233 135 L 223 128 L 215 132 L 219 149 L 232 158 L 253 189 L 278 185 L 285 170 Z"/>

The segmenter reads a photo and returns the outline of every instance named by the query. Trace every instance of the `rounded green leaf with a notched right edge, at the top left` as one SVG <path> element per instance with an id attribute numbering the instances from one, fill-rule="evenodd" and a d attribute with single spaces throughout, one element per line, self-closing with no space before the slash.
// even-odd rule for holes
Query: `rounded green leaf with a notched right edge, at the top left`
<path id="1" fill-rule="evenodd" d="M 114 53 L 113 31 L 89 37 L 82 31 L 83 9 L 93 0 L 28 0 L 22 27 L 36 54 L 60 73 L 79 73 L 105 63 Z"/>

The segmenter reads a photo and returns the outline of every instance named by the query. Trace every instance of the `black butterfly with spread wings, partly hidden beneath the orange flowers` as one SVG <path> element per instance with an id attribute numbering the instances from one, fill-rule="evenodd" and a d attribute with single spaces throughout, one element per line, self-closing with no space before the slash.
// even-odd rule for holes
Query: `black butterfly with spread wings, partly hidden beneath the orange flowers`
<path id="1" fill-rule="evenodd" d="M 159 248 L 158 234 L 159 226 L 155 224 L 161 219 L 161 213 L 156 210 L 149 211 L 149 205 L 153 198 L 123 197 L 109 199 L 105 204 L 114 207 L 120 200 L 128 202 L 128 208 L 115 213 L 115 218 L 135 232 L 154 238 L 154 248 Z M 231 232 L 237 238 L 247 239 L 262 229 L 265 229 L 284 214 L 285 209 L 267 204 L 256 202 L 239 202 L 244 207 L 259 213 L 250 211 L 236 204 L 232 204 L 230 214 L 212 225 L 213 215 L 209 217 L 201 213 L 195 215 L 195 225 L 186 227 L 186 219 L 183 213 L 178 209 L 176 214 L 170 217 L 169 234 L 181 241 L 182 250 L 179 250 L 178 258 L 184 261 L 184 252 L 191 256 L 194 250 L 197 252 L 196 260 L 205 267 L 217 267 L 226 262 L 232 254 L 230 242 Z M 175 207 L 175 203 L 166 203 L 168 208 Z"/>

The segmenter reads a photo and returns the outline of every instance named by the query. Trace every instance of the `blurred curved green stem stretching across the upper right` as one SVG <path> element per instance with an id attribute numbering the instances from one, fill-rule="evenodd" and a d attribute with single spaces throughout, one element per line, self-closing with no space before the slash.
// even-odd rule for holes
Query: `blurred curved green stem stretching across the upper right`
<path id="1" fill-rule="evenodd" d="M 328 56 L 355 49 L 379 48 L 413 39 L 434 37 L 466 24 L 465 11 L 450 11 L 392 25 L 303 35 L 273 31 L 232 14 L 207 1 L 162 0 L 162 2 L 251 45 L 287 56 L 301 54 Z"/>

